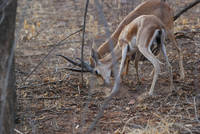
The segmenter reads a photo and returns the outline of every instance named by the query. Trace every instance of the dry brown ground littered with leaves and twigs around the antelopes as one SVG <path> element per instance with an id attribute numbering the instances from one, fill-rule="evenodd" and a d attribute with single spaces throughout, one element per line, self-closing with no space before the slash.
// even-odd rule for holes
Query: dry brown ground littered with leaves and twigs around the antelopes
<path id="1" fill-rule="evenodd" d="M 24 24 L 15 54 L 18 102 L 16 129 L 24 134 L 84 133 L 97 115 L 110 87 L 95 82 L 95 88 L 91 89 L 88 79 L 95 77 L 84 74 L 82 85 L 80 73 L 61 69 L 72 65 L 56 57 L 56 54 L 80 57 L 81 33 L 73 35 L 59 46 L 55 47 L 55 44 L 81 28 L 85 1 L 18 2 L 17 26 L 20 25 L 20 18 L 24 18 Z M 169 0 L 175 12 L 189 2 Z M 113 31 L 122 18 L 139 3 L 139 0 L 124 5 L 113 0 L 102 2 L 109 30 Z M 200 132 L 200 123 L 197 121 L 200 99 L 195 99 L 200 93 L 199 14 L 200 7 L 197 5 L 175 22 L 175 33 L 184 33 L 184 36 L 177 34 L 178 44 L 184 53 L 184 80 L 179 79 L 177 51 L 171 43 L 167 43 L 176 91 L 169 92 L 168 76 L 164 73 L 156 84 L 155 95 L 143 98 L 143 93 L 148 92 L 152 82 L 149 77 L 152 65 L 147 61 L 140 63 L 142 84 L 137 84 L 131 63 L 129 74 L 122 81 L 120 93 L 109 103 L 93 133 Z M 103 24 L 98 19 L 96 7 L 91 1 L 86 26 L 85 59 L 89 57 L 93 41 L 98 46 L 106 39 Z M 44 62 L 27 78 L 52 49 Z M 165 72 L 164 66 L 162 71 Z"/>

